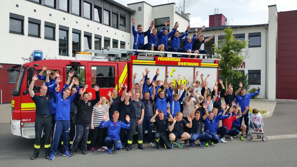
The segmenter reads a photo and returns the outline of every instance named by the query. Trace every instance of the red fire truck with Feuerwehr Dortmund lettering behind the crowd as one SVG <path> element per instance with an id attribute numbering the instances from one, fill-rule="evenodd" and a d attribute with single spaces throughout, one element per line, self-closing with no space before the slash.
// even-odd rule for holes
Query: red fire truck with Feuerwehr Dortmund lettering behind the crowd
<path id="1" fill-rule="evenodd" d="M 214 85 L 214 80 L 218 79 L 219 60 L 218 59 L 188 59 L 177 57 L 153 57 L 153 56 L 130 56 L 130 60 L 124 62 L 110 61 L 89 61 L 89 60 L 38 60 L 27 62 L 8 69 L 9 72 L 14 70 L 19 71 L 19 75 L 12 90 L 12 117 L 11 131 L 14 135 L 35 138 L 34 121 L 35 121 L 35 104 L 29 95 L 29 84 L 32 81 L 34 74 L 40 73 L 42 66 L 47 64 L 51 70 L 59 71 L 63 76 L 63 81 L 60 86 L 64 86 L 68 73 L 71 70 L 75 71 L 74 77 L 78 78 L 80 86 L 89 85 L 87 92 L 95 93 L 94 85 L 99 86 L 101 96 L 106 96 L 108 91 L 118 89 L 119 95 L 122 94 L 121 87 L 118 83 L 127 83 L 128 89 L 132 85 L 132 73 L 138 73 L 136 83 L 142 79 L 142 73 L 145 68 L 150 70 L 149 78 L 153 78 L 157 68 L 160 69 L 158 80 L 164 80 L 166 72 L 170 73 L 168 82 L 178 78 L 181 74 L 184 84 L 189 80 L 189 85 L 194 81 L 196 71 L 203 73 L 208 78 L 208 87 Z M 200 74 L 198 79 L 200 80 Z M 44 81 L 37 81 L 34 84 L 34 92 L 39 95 L 40 86 Z M 90 86 L 91 85 L 91 86 Z"/>

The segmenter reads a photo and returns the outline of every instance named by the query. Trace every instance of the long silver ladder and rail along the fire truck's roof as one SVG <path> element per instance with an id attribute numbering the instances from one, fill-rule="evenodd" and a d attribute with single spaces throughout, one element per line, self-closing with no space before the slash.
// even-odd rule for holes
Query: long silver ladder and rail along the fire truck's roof
<path id="1" fill-rule="evenodd" d="M 151 55 L 162 55 L 163 56 L 165 53 L 167 54 L 167 57 L 172 57 L 172 54 L 183 55 L 180 52 L 147 51 L 147 50 L 120 49 L 120 48 L 110 48 L 110 47 L 102 48 L 102 50 L 87 49 L 83 52 L 97 53 L 97 54 L 100 54 L 100 56 L 105 56 L 105 57 L 108 57 L 108 54 L 112 54 L 118 58 L 118 57 L 122 57 L 122 54 L 126 54 L 126 56 L 134 55 L 135 51 L 137 51 L 140 56 L 151 56 Z M 184 53 L 184 54 L 185 55 L 205 56 L 205 59 L 212 58 L 211 56 L 209 56 L 209 54 L 197 54 L 197 53 Z"/>

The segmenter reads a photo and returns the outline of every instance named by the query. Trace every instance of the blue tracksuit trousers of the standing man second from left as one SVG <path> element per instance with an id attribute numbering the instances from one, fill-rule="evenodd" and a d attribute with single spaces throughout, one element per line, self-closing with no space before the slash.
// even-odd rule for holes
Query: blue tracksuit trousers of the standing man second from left
<path id="1" fill-rule="evenodd" d="M 62 134 L 63 137 L 63 152 L 68 151 L 68 137 L 70 131 L 70 120 L 56 120 L 54 125 L 54 136 L 53 143 L 50 149 L 52 154 L 59 153 L 57 147 L 59 144 L 59 139 Z"/>

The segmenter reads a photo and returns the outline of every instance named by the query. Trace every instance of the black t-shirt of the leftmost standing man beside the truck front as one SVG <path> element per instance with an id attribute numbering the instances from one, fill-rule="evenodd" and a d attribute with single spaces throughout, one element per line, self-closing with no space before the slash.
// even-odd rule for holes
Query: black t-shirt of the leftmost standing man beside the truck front
<path id="1" fill-rule="evenodd" d="M 34 94 L 34 97 L 31 98 L 36 105 L 36 115 L 50 115 L 50 99 L 52 98 L 50 93 L 46 94 L 45 96 L 37 96 L 36 94 Z"/>

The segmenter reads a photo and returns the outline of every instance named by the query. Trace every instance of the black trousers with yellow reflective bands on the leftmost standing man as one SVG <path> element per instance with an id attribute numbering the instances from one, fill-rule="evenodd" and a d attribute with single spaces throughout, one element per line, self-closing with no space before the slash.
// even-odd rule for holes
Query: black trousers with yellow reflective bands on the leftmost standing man
<path id="1" fill-rule="evenodd" d="M 39 155 L 40 139 L 42 130 L 44 129 L 45 142 L 44 149 L 45 155 L 50 154 L 50 134 L 52 132 L 52 116 L 36 116 L 35 119 L 35 142 L 34 142 L 34 155 Z"/>

